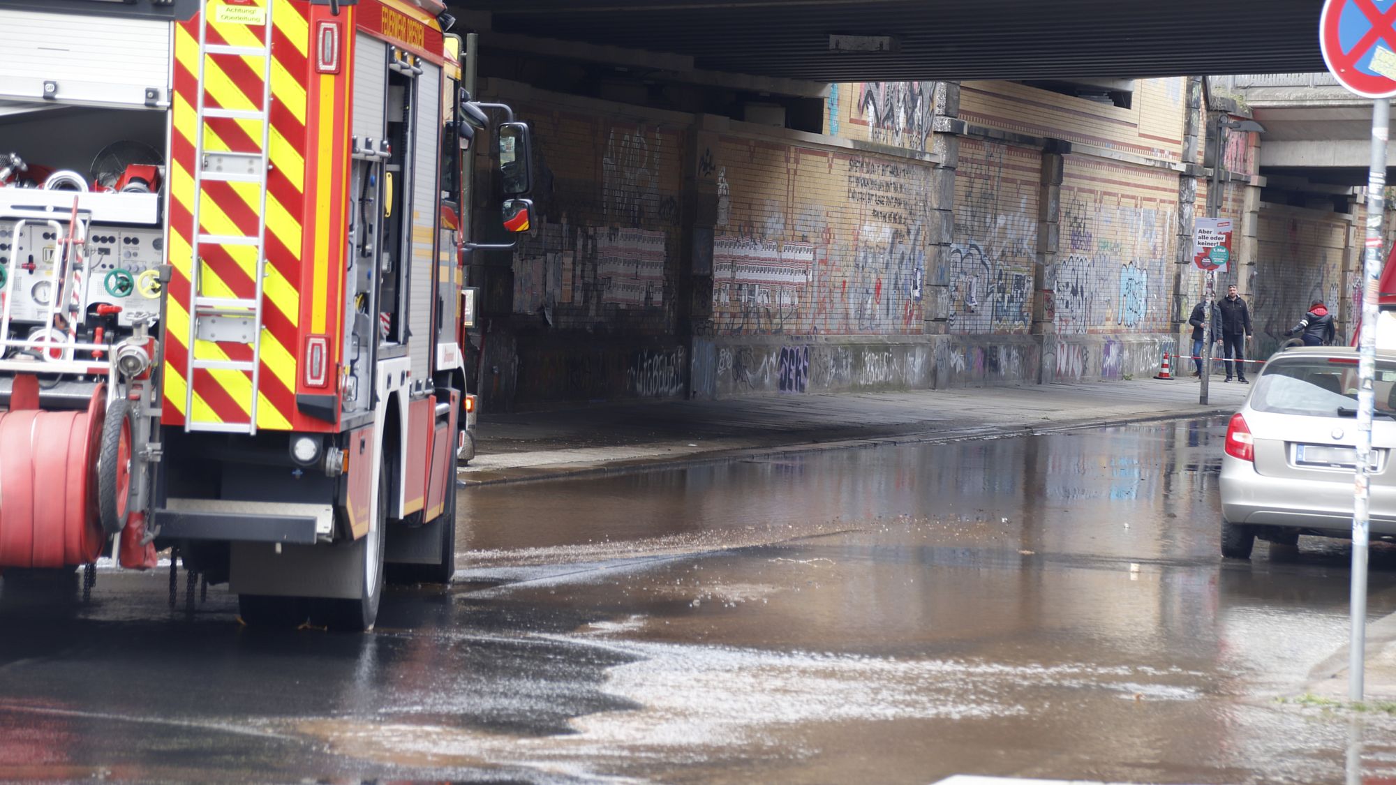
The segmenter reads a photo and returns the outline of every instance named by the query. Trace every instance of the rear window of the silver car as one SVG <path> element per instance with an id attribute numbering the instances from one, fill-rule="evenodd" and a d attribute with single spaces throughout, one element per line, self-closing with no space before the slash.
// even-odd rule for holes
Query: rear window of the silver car
<path id="1" fill-rule="evenodd" d="M 1378 362 L 1378 412 L 1396 412 L 1396 363 Z M 1337 416 L 1357 408 L 1357 358 L 1294 358 L 1270 362 L 1256 380 L 1251 408 L 1282 415 Z"/>

